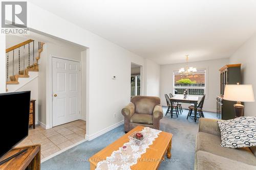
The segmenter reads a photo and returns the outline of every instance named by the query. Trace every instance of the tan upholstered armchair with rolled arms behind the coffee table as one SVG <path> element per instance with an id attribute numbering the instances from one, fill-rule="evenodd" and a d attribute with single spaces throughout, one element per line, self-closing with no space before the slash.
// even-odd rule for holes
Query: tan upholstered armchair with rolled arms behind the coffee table
<path id="1" fill-rule="evenodd" d="M 129 105 L 122 109 L 124 131 L 129 132 L 136 126 L 159 129 L 163 110 L 160 98 L 152 96 L 134 96 Z"/>

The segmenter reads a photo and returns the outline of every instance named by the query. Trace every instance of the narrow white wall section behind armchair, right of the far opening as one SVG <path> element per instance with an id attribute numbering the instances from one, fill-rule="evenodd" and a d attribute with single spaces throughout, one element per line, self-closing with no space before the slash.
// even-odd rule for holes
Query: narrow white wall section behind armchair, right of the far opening
<path id="1" fill-rule="evenodd" d="M 145 59 L 145 94 L 148 96 L 159 96 L 160 97 L 160 65 L 157 63 Z"/>

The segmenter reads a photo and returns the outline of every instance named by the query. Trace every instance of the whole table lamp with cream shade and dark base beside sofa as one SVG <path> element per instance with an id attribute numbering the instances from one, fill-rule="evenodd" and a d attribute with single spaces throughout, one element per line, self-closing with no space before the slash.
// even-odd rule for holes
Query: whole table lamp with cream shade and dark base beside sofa
<path id="1" fill-rule="evenodd" d="M 234 105 L 236 117 L 243 116 L 244 105 L 241 102 L 254 102 L 252 85 L 240 85 L 239 83 L 237 85 L 226 85 L 223 99 L 236 101 L 237 104 Z"/>

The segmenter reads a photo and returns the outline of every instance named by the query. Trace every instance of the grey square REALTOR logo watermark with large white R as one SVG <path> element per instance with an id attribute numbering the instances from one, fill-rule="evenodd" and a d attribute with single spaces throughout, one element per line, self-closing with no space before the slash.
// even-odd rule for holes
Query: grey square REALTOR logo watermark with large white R
<path id="1" fill-rule="evenodd" d="M 3 1 L 1 5 L 1 34 L 28 34 L 27 2 Z"/>

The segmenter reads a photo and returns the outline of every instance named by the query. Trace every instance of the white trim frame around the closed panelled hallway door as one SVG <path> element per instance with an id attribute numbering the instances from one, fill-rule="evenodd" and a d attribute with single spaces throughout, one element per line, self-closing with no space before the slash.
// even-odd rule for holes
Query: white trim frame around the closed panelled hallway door
<path id="1" fill-rule="evenodd" d="M 81 67 L 81 61 L 78 61 L 78 60 L 74 60 L 74 59 L 69 59 L 69 58 L 64 58 L 64 57 L 59 57 L 59 56 L 56 56 L 56 55 L 50 55 L 50 84 L 51 84 L 51 104 L 50 104 L 50 127 L 49 128 L 52 128 L 52 122 L 53 122 L 53 106 L 52 106 L 52 103 L 53 103 L 53 83 L 52 83 L 52 73 L 53 73 L 53 71 L 52 71 L 52 59 L 53 58 L 58 58 L 58 59 L 63 59 L 63 60 L 69 60 L 69 61 L 75 61 L 75 62 L 79 62 L 79 65 L 80 65 L 80 70 L 82 69 L 82 67 Z M 82 74 L 80 74 L 80 79 L 82 80 L 82 77 L 81 77 L 81 75 Z M 82 82 L 82 81 L 81 81 Z M 80 82 L 80 91 L 81 91 L 81 82 Z M 81 111 L 81 105 L 82 105 L 82 103 L 81 103 L 81 98 L 82 96 L 81 96 L 81 93 L 80 93 L 80 111 Z M 80 112 L 80 118 L 81 118 L 81 116 L 82 116 L 82 114 L 81 114 L 81 112 Z M 47 128 L 48 129 L 48 128 Z"/>

